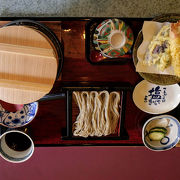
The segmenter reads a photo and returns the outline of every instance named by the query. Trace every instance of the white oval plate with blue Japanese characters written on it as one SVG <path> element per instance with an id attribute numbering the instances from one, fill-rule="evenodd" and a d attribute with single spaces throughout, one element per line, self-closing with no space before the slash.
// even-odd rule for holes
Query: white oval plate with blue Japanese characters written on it
<path id="1" fill-rule="evenodd" d="M 178 84 L 161 86 L 146 80 L 136 85 L 133 91 L 135 105 L 150 114 L 162 114 L 176 108 L 180 102 Z"/>

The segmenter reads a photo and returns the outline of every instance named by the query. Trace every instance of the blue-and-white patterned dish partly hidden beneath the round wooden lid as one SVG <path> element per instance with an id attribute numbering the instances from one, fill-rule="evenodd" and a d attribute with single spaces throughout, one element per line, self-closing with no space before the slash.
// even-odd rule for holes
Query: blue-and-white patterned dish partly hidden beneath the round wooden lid
<path id="1" fill-rule="evenodd" d="M 0 124 L 8 128 L 18 128 L 30 123 L 36 116 L 38 103 L 25 104 L 16 112 L 6 111 L 0 104 Z"/>

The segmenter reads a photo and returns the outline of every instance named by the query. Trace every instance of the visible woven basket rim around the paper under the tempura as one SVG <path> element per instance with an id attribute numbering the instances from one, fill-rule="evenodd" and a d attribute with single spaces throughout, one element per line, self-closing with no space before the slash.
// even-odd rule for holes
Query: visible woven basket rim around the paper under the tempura
<path id="1" fill-rule="evenodd" d="M 159 16 L 153 19 L 153 21 L 157 22 L 177 22 L 180 19 L 179 14 L 167 14 L 163 16 Z M 137 50 L 143 41 L 143 34 L 142 31 L 139 32 L 137 39 L 134 44 L 133 48 L 133 61 L 134 65 L 136 66 L 138 63 L 137 58 Z M 180 82 L 180 78 L 173 76 L 173 75 L 164 75 L 164 74 L 152 74 L 152 73 L 142 73 L 139 72 L 142 78 L 146 79 L 147 81 L 159 85 L 171 85 Z"/>

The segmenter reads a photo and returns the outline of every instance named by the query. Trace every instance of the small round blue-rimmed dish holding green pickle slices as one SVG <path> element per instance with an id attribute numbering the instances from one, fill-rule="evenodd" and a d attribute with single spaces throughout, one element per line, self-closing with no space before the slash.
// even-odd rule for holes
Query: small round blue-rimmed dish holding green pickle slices
<path id="1" fill-rule="evenodd" d="M 148 134 L 153 127 L 163 127 L 167 129 L 167 133 L 161 140 L 153 141 Z M 142 140 L 144 145 L 153 151 L 164 151 L 173 148 L 180 139 L 179 121 L 170 115 L 156 116 L 149 119 L 142 129 Z"/>

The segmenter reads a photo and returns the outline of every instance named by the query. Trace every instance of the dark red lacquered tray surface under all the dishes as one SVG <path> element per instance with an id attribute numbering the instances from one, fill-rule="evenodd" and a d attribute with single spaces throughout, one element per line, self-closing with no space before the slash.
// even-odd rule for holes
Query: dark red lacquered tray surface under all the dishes
<path id="1" fill-rule="evenodd" d="M 0 25 L 20 18 L 1 18 Z M 22 18 L 21 18 L 22 19 Z M 51 28 L 63 45 L 64 64 L 60 78 L 55 82 L 50 98 L 39 102 L 39 110 L 35 119 L 27 125 L 31 130 L 36 146 L 68 146 L 68 145 L 142 145 L 141 130 L 144 122 L 152 115 L 139 110 L 132 100 L 134 86 L 142 80 L 135 72 L 132 57 L 127 62 L 115 64 L 91 64 L 86 59 L 85 28 L 90 18 L 27 18 L 39 21 Z M 122 18 L 123 19 L 123 18 Z M 126 21 L 126 19 L 123 19 Z M 136 39 L 142 28 L 144 19 L 127 19 Z M 146 19 L 147 20 L 147 19 Z M 125 59 L 123 59 L 125 60 Z M 126 93 L 124 111 L 124 129 L 128 134 L 125 139 L 112 140 L 78 140 L 63 139 L 67 134 L 67 109 L 63 87 L 93 86 L 106 83 L 112 87 L 125 87 Z M 62 94 L 62 92 L 64 94 Z M 54 96 L 56 94 L 57 96 Z M 178 109 L 172 113 L 176 113 Z"/>

